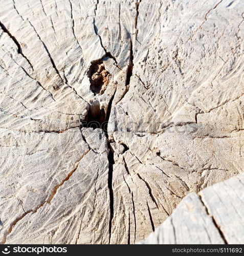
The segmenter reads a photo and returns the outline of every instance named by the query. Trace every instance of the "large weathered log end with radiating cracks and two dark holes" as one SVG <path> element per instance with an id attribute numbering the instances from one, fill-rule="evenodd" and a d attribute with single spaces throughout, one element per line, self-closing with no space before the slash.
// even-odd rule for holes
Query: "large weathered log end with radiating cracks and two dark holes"
<path id="1" fill-rule="evenodd" d="M 242 172 L 243 1 L 0 6 L 1 243 L 134 244 Z"/>

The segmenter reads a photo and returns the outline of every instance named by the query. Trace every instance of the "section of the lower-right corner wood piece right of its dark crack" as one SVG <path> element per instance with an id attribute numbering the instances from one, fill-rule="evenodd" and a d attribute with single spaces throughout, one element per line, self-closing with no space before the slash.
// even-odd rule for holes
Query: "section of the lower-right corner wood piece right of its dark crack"
<path id="1" fill-rule="evenodd" d="M 205 188 L 201 197 L 228 244 L 244 243 L 244 175 Z"/>

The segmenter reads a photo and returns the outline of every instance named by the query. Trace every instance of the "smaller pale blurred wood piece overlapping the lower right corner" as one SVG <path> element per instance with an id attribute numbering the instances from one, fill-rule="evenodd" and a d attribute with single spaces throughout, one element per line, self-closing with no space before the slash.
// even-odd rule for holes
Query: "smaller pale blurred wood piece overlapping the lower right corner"
<path id="1" fill-rule="evenodd" d="M 186 196 L 141 244 L 243 244 L 244 175 Z"/>

